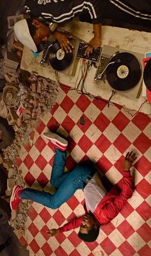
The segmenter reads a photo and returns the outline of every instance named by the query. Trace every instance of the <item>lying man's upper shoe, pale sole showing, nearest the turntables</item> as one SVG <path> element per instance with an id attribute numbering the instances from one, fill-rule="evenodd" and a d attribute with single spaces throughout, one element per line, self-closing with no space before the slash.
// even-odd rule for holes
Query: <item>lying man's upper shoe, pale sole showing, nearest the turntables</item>
<path id="1" fill-rule="evenodd" d="M 52 144 L 54 144 L 54 148 L 59 148 L 62 150 L 65 150 L 67 148 L 68 142 L 66 141 L 66 139 L 63 139 L 56 133 L 45 132 L 44 137 L 46 139 L 49 139 L 49 141 L 51 141 Z"/>

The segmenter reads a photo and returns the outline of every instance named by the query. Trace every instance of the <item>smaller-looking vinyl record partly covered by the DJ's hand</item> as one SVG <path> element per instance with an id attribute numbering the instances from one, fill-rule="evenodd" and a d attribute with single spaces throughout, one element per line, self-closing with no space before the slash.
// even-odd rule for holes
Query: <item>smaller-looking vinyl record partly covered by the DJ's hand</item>
<path id="1" fill-rule="evenodd" d="M 72 59 L 73 50 L 72 53 L 66 53 L 61 50 L 58 42 L 54 42 L 49 50 L 49 62 L 55 70 L 62 71 L 63 69 L 67 69 L 67 67 L 72 63 Z"/>

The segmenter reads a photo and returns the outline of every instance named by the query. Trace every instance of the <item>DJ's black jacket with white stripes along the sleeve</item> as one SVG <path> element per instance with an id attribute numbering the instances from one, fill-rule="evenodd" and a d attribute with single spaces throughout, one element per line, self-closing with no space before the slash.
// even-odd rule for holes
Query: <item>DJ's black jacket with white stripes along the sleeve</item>
<path id="1" fill-rule="evenodd" d="M 89 12 L 93 24 L 101 21 L 103 4 L 106 0 L 26 0 L 28 14 L 51 19 L 57 23 L 71 21 L 73 17 Z"/>

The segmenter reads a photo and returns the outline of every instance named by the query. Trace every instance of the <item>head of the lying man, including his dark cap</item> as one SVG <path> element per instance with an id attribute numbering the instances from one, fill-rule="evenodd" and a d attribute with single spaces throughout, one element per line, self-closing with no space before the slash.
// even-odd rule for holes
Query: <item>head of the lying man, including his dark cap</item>
<path id="1" fill-rule="evenodd" d="M 100 231 L 100 223 L 89 211 L 83 218 L 79 229 L 79 238 L 85 242 L 93 242 L 97 239 Z"/>

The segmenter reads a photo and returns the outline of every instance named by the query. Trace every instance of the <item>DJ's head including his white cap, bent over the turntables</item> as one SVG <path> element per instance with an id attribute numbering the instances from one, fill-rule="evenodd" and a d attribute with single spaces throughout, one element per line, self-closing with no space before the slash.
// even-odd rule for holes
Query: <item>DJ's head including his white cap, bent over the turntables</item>
<path id="1" fill-rule="evenodd" d="M 16 22 L 14 31 L 19 41 L 34 53 L 40 51 L 40 44 L 47 41 L 51 35 L 51 28 L 35 17 Z"/>

